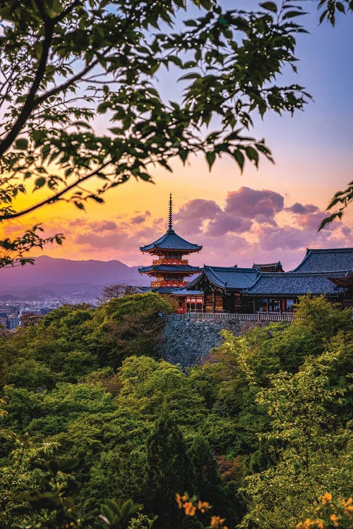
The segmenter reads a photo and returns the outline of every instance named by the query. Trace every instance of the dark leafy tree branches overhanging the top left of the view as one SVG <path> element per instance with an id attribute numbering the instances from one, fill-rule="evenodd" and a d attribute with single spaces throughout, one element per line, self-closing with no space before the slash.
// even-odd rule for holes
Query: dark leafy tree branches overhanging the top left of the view
<path id="1" fill-rule="evenodd" d="M 353 7 L 317 3 L 331 23 L 336 10 Z M 180 13 L 191 6 L 200 16 L 179 30 Z M 303 14 L 291 0 L 263 2 L 253 12 L 225 11 L 216 0 L 2 0 L 0 220 L 58 200 L 80 209 L 103 202 L 131 177 L 151 181 L 151 164 L 171 170 L 173 157 L 185 163 L 202 153 L 211 168 L 229 154 L 240 169 L 245 159 L 257 166 L 259 154 L 271 159 L 247 130 L 254 113 L 293 113 L 308 99 L 300 85 L 276 81 L 286 66 L 296 71 Z M 182 104 L 158 92 L 155 74 L 169 66 L 189 83 Z M 112 121 L 102 135 L 94 130 L 97 113 Z M 201 137 L 213 117 L 220 129 Z M 16 198 L 29 188 L 48 195 L 21 209 Z M 40 230 L 0 241 L 0 265 L 23 265 L 33 247 L 61 243 Z"/>

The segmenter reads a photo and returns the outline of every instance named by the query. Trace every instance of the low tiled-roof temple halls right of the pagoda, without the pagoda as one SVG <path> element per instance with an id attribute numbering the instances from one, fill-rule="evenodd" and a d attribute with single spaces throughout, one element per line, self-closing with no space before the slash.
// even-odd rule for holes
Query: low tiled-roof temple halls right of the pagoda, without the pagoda
<path id="1" fill-rule="evenodd" d="M 283 272 L 280 261 L 252 268 L 204 265 L 186 291 L 203 292 L 206 312 L 286 314 L 308 293 L 353 306 L 352 272 L 353 248 L 307 249 L 291 272 Z"/>

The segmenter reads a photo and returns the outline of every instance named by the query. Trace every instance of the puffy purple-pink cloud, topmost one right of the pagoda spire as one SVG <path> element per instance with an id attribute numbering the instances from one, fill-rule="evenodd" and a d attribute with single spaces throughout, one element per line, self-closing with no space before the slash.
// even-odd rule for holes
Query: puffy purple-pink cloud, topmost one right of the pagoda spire
<path id="1" fill-rule="evenodd" d="M 269 189 L 242 187 L 227 194 L 225 212 L 246 219 L 274 224 L 275 214 L 284 208 L 285 199 Z"/>

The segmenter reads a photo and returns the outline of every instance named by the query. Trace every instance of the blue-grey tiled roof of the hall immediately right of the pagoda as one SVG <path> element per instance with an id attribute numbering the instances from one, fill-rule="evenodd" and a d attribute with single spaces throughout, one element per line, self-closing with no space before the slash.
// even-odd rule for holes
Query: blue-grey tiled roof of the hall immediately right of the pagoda
<path id="1" fill-rule="evenodd" d="M 186 288 L 198 288 L 201 281 L 207 279 L 211 284 L 219 288 L 244 290 L 253 284 L 257 274 L 258 270 L 255 268 L 210 267 L 204 265 L 201 274 L 193 281 L 190 281 Z"/>

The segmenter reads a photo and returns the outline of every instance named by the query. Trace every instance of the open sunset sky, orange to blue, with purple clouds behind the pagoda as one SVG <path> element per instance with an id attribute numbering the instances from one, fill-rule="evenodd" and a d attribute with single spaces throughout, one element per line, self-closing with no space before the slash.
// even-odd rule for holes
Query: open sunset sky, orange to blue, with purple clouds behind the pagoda
<path id="1" fill-rule="evenodd" d="M 223 1 L 226 7 L 238 4 Z M 190 256 L 192 265 L 281 260 L 289 270 L 306 248 L 353 246 L 353 207 L 342 222 L 317 233 L 330 198 L 352 180 L 353 16 L 339 16 L 335 28 L 319 26 L 308 4 L 310 33 L 298 39 L 298 75 L 285 72 L 280 82 L 303 85 L 313 102 L 293 117 L 258 118 L 252 131 L 265 138 L 275 164 L 263 158 L 258 169 L 247 164 L 240 174 L 227 157 L 217 159 L 212 172 L 203 157 L 191 158 L 186 166 L 175 161 L 173 174 L 152 169 L 155 184 L 131 180 L 109 191 L 104 205 L 90 204 L 86 212 L 66 203 L 51 205 L 9 224 L 6 233 L 43 222 L 46 233 L 66 237 L 62 247 L 44 248 L 44 255 L 145 265 L 150 256 L 141 254 L 139 246 L 166 231 L 172 193 L 175 231 L 203 245 L 201 253 Z M 173 73 L 158 72 L 157 81 L 168 99 L 175 100 L 182 90 Z M 104 129 L 107 123 L 97 121 L 96 126 Z"/>

